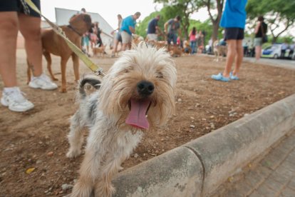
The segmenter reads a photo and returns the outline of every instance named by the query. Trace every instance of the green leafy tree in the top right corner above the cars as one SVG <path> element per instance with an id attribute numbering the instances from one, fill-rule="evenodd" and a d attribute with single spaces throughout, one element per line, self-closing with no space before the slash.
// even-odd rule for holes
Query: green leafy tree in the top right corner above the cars
<path id="1" fill-rule="evenodd" d="M 294 0 L 248 0 L 246 10 L 250 21 L 264 16 L 273 36 L 272 42 L 276 42 L 284 31 L 294 26 Z"/>

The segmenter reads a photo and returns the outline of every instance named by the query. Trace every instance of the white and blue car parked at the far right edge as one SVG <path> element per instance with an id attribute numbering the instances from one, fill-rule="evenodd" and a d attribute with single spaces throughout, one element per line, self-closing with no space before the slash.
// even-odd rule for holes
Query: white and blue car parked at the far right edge
<path id="1" fill-rule="evenodd" d="M 281 45 L 282 44 L 272 44 L 271 46 L 267 46 L 265 49 L 262 49 L 262 57 L 274 59 L 281 58 Z M 286 49 L 284 58 L 290 58 L 289 51 L 290 49 Z M 291 56 L 291 59 L 295 59 L 295 54 Z"/>

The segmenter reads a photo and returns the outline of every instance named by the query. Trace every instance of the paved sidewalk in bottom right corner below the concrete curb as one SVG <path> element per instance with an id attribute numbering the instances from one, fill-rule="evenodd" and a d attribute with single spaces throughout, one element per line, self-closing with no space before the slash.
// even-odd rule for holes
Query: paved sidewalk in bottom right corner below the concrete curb
<path id="1" fill-rule="evenodd" d="M 247 163 L 246 163 L 247 164 Z M 295 196 L 295 131 L 230 177 L 212 196 Z"/>

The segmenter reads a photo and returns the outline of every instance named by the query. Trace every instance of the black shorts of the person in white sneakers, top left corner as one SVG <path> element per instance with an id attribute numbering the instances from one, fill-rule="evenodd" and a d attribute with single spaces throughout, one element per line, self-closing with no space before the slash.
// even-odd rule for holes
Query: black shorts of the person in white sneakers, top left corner
<path id="1" fill-rule="evenodd" d="M 40 0 L 31 1 L 39 10 L 41 9 Z M 30 6 L 26 4 L 25 0 L 0 0 L 0 11 L 16 11 L 29 16 L 40 17 L 36 11 L 33 11 L 33 9 L 31 9 Z"/>

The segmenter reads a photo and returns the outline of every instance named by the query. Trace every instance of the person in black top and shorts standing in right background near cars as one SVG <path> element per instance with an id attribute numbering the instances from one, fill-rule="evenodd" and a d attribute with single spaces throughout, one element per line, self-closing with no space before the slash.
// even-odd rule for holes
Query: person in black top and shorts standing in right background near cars
<path id="1" fill-rule="evenodd" d="M 254 46 L 255 46 L 255 59 L 259 61 L 262 54 L 262 36 L 267 32 L 267 24 L 264 23 L 264 17 L 259 16 L 257 19 L 257 25 L 255 26 L 254 33 Z"/>

